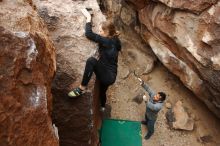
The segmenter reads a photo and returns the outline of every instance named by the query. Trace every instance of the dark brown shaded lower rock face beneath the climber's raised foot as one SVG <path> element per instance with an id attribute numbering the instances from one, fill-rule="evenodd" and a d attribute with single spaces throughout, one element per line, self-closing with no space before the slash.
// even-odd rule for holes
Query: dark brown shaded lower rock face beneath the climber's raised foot
<path id="1" fill-rule="evenodd" d="M 91 145 L 91 93 L 71 99 L 67 96 L 75 77 L 57 70 L 52 84 L 53 123 L 58 127 L 60 146 Z"/>

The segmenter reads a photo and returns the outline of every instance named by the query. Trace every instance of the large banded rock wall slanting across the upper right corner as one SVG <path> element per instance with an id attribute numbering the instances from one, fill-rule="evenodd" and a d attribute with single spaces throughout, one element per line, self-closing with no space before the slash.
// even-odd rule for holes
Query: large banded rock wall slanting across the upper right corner
<path id="1" fill-rule="evenodd" d="M 220 117 L 220 2 L 127 1 L 139 8 L 139 30 L 159 60 Z"/>

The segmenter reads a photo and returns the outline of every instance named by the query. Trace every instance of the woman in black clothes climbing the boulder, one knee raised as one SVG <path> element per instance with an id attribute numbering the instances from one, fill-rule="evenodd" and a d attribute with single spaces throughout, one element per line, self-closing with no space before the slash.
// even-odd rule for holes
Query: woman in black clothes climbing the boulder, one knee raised
<path id="1" fill-rule="evenodd" d="M 91 14 L 86 9 L 83 9 L 82 13 L 87 18 L 86 37 L 99 44 L 99 59 L 97 60 L 94 57 L 87 59 L 81 85 L 69 92 L 68 96 L 77 97 L 82 95 L 94 72 L 100 82 L 99 96 L 102 106 L 101 110 L 104 111 L 106 91 L 108 87 L 115 82 L 117 76 L 118 53 L 121 50 L 121 42 L 118 39 L 118 33 L 112 23 L 103 23 L 102 36 L 100 36 L 92 31 Z"/>

